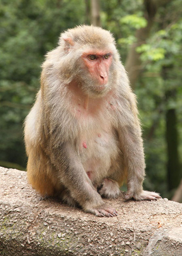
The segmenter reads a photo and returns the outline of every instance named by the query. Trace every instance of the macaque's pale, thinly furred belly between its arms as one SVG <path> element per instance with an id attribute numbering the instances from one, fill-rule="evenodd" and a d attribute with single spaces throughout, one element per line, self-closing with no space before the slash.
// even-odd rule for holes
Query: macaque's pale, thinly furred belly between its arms
<path id="1" fill-rule="evenodd" d="M 83 167 L 92 182 L 102 182 L 108 176 L 111 163 L 118 155 L 117 141 L 114 135 L 97 132 L 95 136 L 80 141 L 80 158 Z"/>

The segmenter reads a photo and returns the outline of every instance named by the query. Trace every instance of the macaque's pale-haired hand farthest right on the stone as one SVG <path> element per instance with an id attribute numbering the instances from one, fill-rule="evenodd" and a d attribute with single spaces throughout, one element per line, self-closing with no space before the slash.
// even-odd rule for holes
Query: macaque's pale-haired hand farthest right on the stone
<path id="1" fill-rule="evenodd" d="M 125 199 L 129 200 L 131 197 L 133 197 L 135 200 L 157 200 L 157 198 L 162 198 L 159 193 L 156 192 L 150 192 L 143 190 L 140 194 L 133 194 L 133 192 L 128 191 L 125 195 Z"/>

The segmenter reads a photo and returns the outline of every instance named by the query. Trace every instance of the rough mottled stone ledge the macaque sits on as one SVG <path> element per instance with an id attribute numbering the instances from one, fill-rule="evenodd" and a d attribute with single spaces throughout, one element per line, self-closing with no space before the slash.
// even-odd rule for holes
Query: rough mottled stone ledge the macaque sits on
<path id="1" fill-rule="evenodd" d="M 106 201 L 118 217 L 41 200 L 25 172 L 0 167 L 0 256 L 182 255 L 182 204 Z"/>

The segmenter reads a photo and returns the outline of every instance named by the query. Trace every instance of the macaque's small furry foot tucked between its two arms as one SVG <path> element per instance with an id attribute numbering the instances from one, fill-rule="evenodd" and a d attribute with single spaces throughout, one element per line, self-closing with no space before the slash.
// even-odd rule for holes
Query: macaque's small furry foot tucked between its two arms
<path id="1" fill-rule="evenodd" d="M 102 189 L 99 191 L 102 197 L 117 198 L 120 194 L 119 184 L 115 180 L 104 179 L 102 182 Z"/>

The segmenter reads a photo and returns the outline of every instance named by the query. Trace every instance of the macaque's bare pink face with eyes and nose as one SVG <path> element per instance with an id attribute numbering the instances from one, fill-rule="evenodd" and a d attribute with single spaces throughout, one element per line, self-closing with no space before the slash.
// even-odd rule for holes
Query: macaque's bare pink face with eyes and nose
<path id="1" fill-rule="evenodd" d="M 82 57 L 93 79 L 96 79 L 99 85 L 106 85 L 109 67 L 112 62 L 112 54 L 110 52 L 92 51 L 85 52 Z"/>

